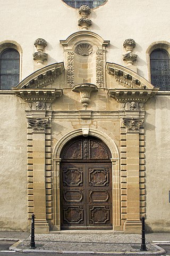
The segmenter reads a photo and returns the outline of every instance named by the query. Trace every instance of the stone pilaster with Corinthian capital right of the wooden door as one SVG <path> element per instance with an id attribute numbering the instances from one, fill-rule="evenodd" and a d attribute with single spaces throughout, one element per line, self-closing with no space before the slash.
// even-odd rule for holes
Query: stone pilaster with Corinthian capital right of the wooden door
<path id="1" fill-rule="evenodd" d="M 139 188 L 139 132 L 144 119 L 123 118 L 126 127 L 127 219 L 124 233 L 141 233 Z"/>

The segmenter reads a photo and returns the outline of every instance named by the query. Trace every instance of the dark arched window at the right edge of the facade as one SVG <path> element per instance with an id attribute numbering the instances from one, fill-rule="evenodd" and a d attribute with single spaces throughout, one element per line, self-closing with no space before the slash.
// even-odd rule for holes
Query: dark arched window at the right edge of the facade
<path id="1" fill-rule="evenodd" d="M 169 54 L 157 49 L 150 54 L 151 84 L 160 90 L 170 90 Z"/>

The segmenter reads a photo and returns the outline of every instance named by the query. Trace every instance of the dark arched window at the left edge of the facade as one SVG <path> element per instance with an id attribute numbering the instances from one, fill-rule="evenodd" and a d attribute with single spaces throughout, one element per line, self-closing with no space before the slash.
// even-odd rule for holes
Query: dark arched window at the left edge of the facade
<path id="1" fill-rule="evenodd" d="M 10 90 L 19 83 L 20 54 L 15 49 L 6 49 L 0 56 L 1 90 Z"/>

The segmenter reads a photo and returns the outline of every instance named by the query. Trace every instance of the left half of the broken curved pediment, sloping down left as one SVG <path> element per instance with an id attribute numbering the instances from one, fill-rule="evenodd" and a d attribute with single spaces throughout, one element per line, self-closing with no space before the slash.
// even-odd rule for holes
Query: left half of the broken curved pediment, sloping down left
<path id="1" fill-rule="evenodd" d="M 23 79 L 16 87 L 12 87 L 12 90 L 18 89 L 31 89 L 31 88 L 43 88 L 49 84 L 52 84 L 57 76 L 62 74 L 64 70 L 63 62 L 54 63 L 44 68 L 38 69 L 25 79 Z"/>

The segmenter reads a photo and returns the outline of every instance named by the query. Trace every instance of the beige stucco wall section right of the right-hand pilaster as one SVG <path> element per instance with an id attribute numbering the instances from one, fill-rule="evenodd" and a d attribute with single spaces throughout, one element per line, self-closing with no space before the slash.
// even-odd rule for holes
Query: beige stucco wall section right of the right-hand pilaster
<path id="1" fill-rule="evenodd" d="M 169 231 L 169 100 L 158 95 L 146 108 L 146 223 L 148 230 Z"/>

